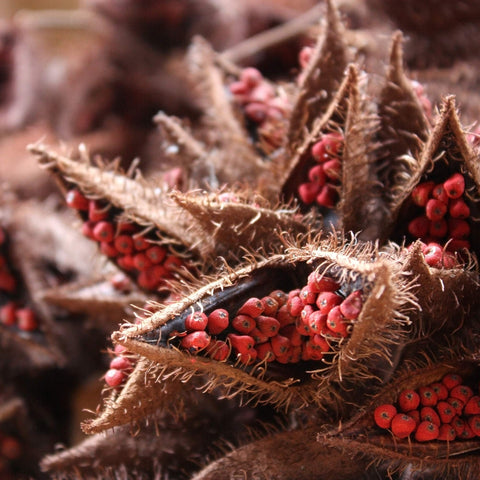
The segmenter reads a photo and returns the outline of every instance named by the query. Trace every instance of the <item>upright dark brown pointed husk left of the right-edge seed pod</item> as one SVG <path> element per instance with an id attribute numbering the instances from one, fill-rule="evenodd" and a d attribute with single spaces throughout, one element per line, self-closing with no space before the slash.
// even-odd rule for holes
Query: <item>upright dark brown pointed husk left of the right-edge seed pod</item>
<path id="1" fill-rule="evenodd" d="M 411 168 L 405 163 L 405 156 L 417 158 L 429 133 L 425 113 L 403 69 L 402 42 L 401 32 L 396 32 L 378 102 L 379 129 L 375 138 L 380 143 L 379 179 L 387 201 L 400 188 L 402 173 L 407 169 L 408 174 Z"/>

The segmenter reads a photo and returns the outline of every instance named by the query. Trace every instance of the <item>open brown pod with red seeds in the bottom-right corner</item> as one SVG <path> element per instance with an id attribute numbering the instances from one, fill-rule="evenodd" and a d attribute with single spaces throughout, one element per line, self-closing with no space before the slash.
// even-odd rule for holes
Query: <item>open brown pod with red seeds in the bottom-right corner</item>
<path id="1" fill-rule="evenodd" d="M 322 446 L 370 459 L 388 475 L 476 478 L 480 468 L 478 361 L 410 367 L 351 422 L 321 433 Z M 402 477 L 403 478 L 403 477 Z"/>

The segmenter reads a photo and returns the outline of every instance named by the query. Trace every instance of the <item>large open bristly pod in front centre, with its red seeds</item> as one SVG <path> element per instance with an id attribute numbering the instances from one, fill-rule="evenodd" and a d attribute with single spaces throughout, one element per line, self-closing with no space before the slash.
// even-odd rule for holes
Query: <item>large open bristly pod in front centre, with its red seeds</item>
<path id="1" fill-rule="evenodd" d="M 207 392 L 341 410 L 346 386 L 389 378 L 411 288 L 400 263 L 333 238 L 252 260 L 112 338 L 161 369 L 159 381 L 200 376 Z"/>

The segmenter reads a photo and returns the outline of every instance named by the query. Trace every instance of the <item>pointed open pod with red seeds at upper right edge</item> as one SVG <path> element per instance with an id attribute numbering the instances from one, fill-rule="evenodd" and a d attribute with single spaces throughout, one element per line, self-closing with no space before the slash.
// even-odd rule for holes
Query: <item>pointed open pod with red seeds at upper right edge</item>
<path id="1" fill-rule="evenodd" d="M 410 168 L 410 175 L 397 184 L 381 238 L 438 245 L 449 253 L 451 261 L 443 261 L 447 267 L 465 261 L 470 252 L 478 255 L 480 170 L 453 97 L 445 99 L 418 162 L 412 159 Z"/>

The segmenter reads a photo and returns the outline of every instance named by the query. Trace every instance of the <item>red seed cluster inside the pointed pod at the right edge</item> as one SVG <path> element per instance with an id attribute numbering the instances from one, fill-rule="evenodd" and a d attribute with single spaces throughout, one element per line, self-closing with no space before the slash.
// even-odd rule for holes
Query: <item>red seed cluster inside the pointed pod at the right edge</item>
<path id="1" fill-rule="evenodd" d="M 465 201 L 465 178 L 454 173 L 443 183 L 422 182 L 413 190 L 411 199 L 422 214 L 408 224 L 408 232 L 422 240 L 430 266 L 455 266 L 453 255 L 470 249 L 470 208 Z M 444 245 L 444 248 L 442 247 Z"/>

